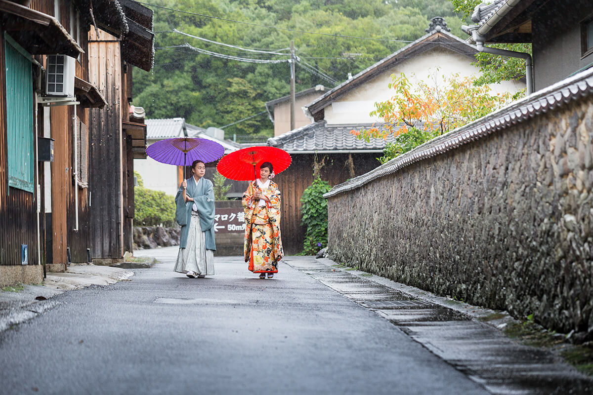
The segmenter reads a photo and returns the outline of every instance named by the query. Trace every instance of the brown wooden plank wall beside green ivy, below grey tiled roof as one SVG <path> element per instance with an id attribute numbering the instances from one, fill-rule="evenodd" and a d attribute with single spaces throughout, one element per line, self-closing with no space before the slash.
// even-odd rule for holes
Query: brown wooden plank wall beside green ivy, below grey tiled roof
<path id="1" fill-rule="evenodd" d="M 291 154 L 291 166 L 277 175 L 274 182 L 278 184 L 282 194 L 280 230 L 282 232 L 282 245 L 286 255 L 302 251 L 305 239 L 305 228 L 301 226 L 301 196 L 311 182 L 313 182 L 314 154 Z M 352 162 L 355 176 L 365 174 L 380 165 L 376 159 L 381 156 L 377 153 L 353 154 Z M 319 154 L 318 162 L 324 159 L 325 165 L 321 168 L 321 179 L 334 185 L 345 182 L 351 178 L 349 172 L 348 154 Z"/>

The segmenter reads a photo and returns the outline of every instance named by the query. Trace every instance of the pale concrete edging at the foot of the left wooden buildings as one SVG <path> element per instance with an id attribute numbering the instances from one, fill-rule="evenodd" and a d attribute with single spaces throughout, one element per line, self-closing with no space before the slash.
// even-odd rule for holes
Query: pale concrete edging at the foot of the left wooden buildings
<path id="1" fill-rule="evenodd" d="M 110 266 L 72 265 L 67 272 L 48 273 L 40 285 L 24 285 L 16 292 L 1 291 L 0 333 L 58 306 L 59 302 L 48 299 L 65 291 L 130 281 L 133 275 L 130 270 Z"/>

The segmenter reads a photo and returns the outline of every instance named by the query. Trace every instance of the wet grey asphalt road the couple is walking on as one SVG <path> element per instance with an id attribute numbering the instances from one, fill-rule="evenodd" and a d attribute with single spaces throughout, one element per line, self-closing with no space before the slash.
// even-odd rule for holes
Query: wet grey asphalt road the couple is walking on
<path id="1" fill-rule="evenodd" d="M 259 280 L 240 258 L 216 275 L 136 269 L 69 291 L 0 337 L 0 393 L 483 394 L 397 326 L 301 271 Z M 288 257 L 291 264 L 311 257 Z"/>

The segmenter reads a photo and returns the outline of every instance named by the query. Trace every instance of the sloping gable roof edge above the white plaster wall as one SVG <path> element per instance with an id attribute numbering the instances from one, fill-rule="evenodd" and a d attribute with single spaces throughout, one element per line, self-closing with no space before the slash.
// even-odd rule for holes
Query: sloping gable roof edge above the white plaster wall
<path id="1" fill-rule="evenodd" d="M 418 38 L 416 41 L 408 44 L 397 52 L 392 53 L 390 56 L 385 57 L 385 59 L 382 59 L 374 65 L 362 70 L 353 76 L 353 78 L 342 82 L 342 84 L 331 89 L 331 91 L 326 92 L 321 97 L 315 99 L 304 107 L 305 114 L 307 114 L 308 117 L 313 118 L 315 113 L 323 110 L 323 108 L 330 105 L 337 98 L 345 95 L 349 91 L 352 91 L 352 89 L 356 88 L 357 86 L 364 84 L 366 81 L 369 81 L 369 79 L 375 78 L 375 76 L 387 69 L 392 68 L 398 63 L 407 60 L 410 56 L 416 56 L 417 54 L 426 52 L 435 46 L 446 47 L 449 50 L 453 50 L 472 58 L 474 54 L 478 53 L 476 47 L 468 44 L 461 38 L 448 33 L 447 31 L 432 31 L 431 33 L 425 34 L 425 36 Z M 461 50 L 462 48 L 464 50 Z"/>

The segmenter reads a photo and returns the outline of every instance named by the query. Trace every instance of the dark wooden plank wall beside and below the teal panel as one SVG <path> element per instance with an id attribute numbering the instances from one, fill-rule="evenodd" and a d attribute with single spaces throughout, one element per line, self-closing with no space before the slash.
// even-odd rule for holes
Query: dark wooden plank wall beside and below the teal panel
<path id="1" fill-rule="evenodd" d="M 0 37 L 4 31 L 0 28 Z M 21 244 L 28 245 L 28 263 L 37 258 L 37 205 L 34 195 L 8 187 L 6 121 L 6 65 L 4 40 L 0 39 L 0 265 L 21 264 Z M 36 147 L 35 147 L 36 149 Z"/>

